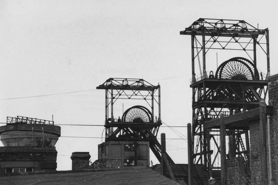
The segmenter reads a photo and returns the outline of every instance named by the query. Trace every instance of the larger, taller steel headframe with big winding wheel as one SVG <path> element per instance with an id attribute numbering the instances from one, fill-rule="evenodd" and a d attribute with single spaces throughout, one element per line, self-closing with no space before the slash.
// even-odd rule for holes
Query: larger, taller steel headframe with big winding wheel
<path id="1" fill-rule="evenodd" d="M 219 127 L 208 128 L 206 123 L 220 118 L 221 112 L 228 116 L 257 108 L 265 99 L 270 75 L 268 28 L 261 30 L 243 20 L 200 18 L 180 34 L 191 35 L 194 163 L 204 164 L 211 172 L 220 168 L 220 132 Z M 266 62 L 257 61 L 257 49 L 265 53 Z M 212 50 L 236 51 L 240 57 L 225 59 L 208 75 L 206 66 L 217 60 L 206 60 Z M 195 73 L 197 62 L 199 75 Z M 265 75 L 259 73 L 258 62 L 266 65 Z M 230 125 L 226 129 L 226 134 L 233 136 L 235 154 L 244 157 L 249 167 L 248 127 Z"/>

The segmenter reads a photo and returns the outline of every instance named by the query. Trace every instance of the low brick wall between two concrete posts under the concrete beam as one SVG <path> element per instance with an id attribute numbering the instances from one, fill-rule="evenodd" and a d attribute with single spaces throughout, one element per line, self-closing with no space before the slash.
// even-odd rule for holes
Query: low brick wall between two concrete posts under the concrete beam
<path id="1" fill-rule="evenodd" d="M 227 159 L 227 184 L 238 185 L 248 184 L 246 175 L 245 160 L 243 157 Z"/>

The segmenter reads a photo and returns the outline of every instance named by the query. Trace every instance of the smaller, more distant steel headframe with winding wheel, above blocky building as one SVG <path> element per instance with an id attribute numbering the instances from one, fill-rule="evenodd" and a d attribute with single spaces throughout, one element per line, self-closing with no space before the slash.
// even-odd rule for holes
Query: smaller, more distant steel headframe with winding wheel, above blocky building
<path id="1" fill-rule="evenodd" d="M 161 161 L 161 145 L 156 139 L 161 125 L 160 85 L 152 85 L 143 79 L 109 78 L 97 89 L 105 89 L 105 141 L 149 141 L 152 152 Z M 142 100 L 150 110 L 136 105 L 123 112 L 121 118 L 114 118 L 114 104 L 120 99 Z M 157 107 L 158 117 L 154 107 Z M 167 159 L 174 164 L 168 155 Z"/>

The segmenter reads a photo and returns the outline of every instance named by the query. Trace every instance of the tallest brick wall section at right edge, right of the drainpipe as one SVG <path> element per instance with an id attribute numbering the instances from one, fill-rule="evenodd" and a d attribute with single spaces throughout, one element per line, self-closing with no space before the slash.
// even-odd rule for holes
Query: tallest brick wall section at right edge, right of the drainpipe
<path id="1" fill-rule="evenodd" d="M 270 115 L 272 184 L 278 184 L 278 74 L 268 77 L 268 98 L 269 105 L 273 106 Z"/>

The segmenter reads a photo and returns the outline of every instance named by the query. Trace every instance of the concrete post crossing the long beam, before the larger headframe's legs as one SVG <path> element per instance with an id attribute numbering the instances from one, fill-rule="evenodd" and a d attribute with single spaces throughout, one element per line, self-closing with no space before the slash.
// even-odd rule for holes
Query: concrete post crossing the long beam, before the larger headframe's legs
<path id="1" fill-rule="evenodd" d="M 220 156 L 221 156 L 221 184 L 227 184 L 227 166 L 226 166 L 226 129 L 224 114 L 220 114 Z"/>

